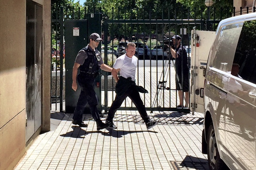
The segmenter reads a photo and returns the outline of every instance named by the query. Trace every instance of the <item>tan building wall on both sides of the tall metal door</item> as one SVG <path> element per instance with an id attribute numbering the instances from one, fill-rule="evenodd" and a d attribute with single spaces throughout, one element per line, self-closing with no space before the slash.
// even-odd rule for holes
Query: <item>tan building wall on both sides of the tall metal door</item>
<path id="1" fill-rule="evenodd" d="M 40 130 L 49 131 L 51 1 L 36 2 L 43 5 L 43 121 Z M 15 167 L 29 145 L 25 139 L 26 0 L 0 0 L 0 4 L 0 169 L 8 170 Z"/>

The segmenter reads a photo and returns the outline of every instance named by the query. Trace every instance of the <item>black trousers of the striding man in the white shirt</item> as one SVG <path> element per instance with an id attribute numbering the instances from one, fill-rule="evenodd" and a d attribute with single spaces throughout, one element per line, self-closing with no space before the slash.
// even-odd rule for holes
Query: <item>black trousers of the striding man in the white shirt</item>
<path id="1" fill-rule="evenodd" d="M 118 82 L 119 83 L 119 82 Z M 117 93 L 115 100 L 113 101 L 109 113 L 107 116 L 107 120 L 113 121 L 114 115 L 117 111 L 117 109 L 121 106 L 122 102 L 125 100 L 126 97 L 131 98 L 132 102 L 138 109 L 140 116 L 144 120 L 145 123 L 150 121 L 149 116 L 147 115 L 147 111 L 145 108 L 145 105 L 143 104 L 143 101 L 140 98 L 138 90 L 134 88 L 134 86 L 129 86 L 129 88 L 126 90 L 125 93 L 121 93 L 121 95 Z"/>

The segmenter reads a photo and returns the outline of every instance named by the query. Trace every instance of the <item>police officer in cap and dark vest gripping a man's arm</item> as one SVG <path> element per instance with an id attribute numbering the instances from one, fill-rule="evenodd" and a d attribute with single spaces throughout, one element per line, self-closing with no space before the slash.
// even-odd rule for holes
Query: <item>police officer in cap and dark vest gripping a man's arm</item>
<path id="1" fill-rule="evenodd" d="M 78 81 L 81 86 L 81 93 L 77 101 L 72 123 L 80 127 L 87 127 L 87 124 L 82 121 L 82 117 L 85 105 L 88 103 L 92 117 L 96 121 L 97 130 L 101 130 L 108 127 L 108 125 L 100 120 L 96 107 L 98 105 L 98 98 L 94 90 L 94 81 L 95 77 L 99 74 L 99 69 L 111 72 L 112 68 L 103 63 L 100 52 L 96 49 L 100 41 L 102 41 L 99 34 L 92 33 L 89 36 L 89 40 L 89 44 L 78 52 L 73 66 L 72 89 L 77 90 Z M 80 73 L 77 75 L 78 68 Z"/>

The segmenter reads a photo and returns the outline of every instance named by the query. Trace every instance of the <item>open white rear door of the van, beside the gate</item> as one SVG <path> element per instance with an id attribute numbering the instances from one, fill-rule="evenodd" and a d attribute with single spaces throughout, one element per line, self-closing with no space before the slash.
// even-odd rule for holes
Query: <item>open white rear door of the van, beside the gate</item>
<path id="1" fill-rule="evenodd" d="M 190 103 L 193 112 L 204 113 L 204 70 L 215 39 L 214 31 L 191 31 Z M 195 38 L 193 40 L 193 37 Z M 198 40 L 197 40 L 198 37 Z M 197 47 L 197 43 L 199 46 Z"/>

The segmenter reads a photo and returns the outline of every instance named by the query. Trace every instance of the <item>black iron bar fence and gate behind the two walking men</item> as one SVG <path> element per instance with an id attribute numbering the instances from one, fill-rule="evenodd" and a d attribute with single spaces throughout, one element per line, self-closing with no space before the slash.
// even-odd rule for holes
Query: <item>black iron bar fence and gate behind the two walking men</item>
<path id="1" fill-rule="evenodd" d="M 72 15 L 67 12 L 68 10 L 72 11 Z M 63 95 L 65 93 L 65 85 L 63 84 L 65 82 L 63 81 L 63 77 L 65 78 L 63 76 L 63 69 L 65 71 L 64 18 L 86 20 L 87 13 L 102 13 L 100 8 L 98 11 L 89 8 L 84 8 L 82 11 L 83 14 L 79 8 L 78 14 L 76 14 L 73 8 L 65 7 L 63 11 L 63 7 L 61 7 L 60 10 L 56 10 L 56 13 L 52 13 L 51 103 L 57 104 L 59 102 L 61 111 L 65 100 L 63 98 L 65 96 Z M 150 111 L 179 111 L 176 108 L 178 95 L 173 84 L 175 83 L 173 79 L 175 70 L 173 72 L 172 67 L 175 61 L 172 60 L 171 54 L 168 52 L 168 46 L 165 48 L 165 40 L 172 35 L 179 34 L 182 36 L 183 45 L 187 46 L 189 51 L 190 34 L 193 27 L 196 27 L 197 30 L 215 31 L 220 20 L 235 16 L 235 7 L 233 9 L 220 9 L 219 13 L 216 13 L 215 8 L 210 7 L 193 10 L 183 7 L 167 10 L 163 8 L 154 13 L 150 9 L 147 12 L 126 11 L 125 8 L 117 11 L 112 8 L 111 16 L 102 13 L 102 38 L 104 40 L 102 45 L 105 47 L 103 53 L 106 54 L 104 55 L 104 63 L 113 65 L 115 58 L 121 55 L 121 42 L 132 41 L 136 42 L 137 45 L 142 45 L 136 49 L 136 55 L 139 58 L 136 78 L 138 79 L 137 84 L 149 89 L 149 94 L 144 94 L 143 99 L 146 108 Z M 242 8 L 240 11 L 242 14 Z M 255 12 L 255 7 L 253 12 Z M 249 13 L 249 8 L 247 8 L 247 13 Z M 108 46 L 112 47 L 112 53 L 109 52 L 110 55 L 107 55 L 106 47 Z M 188 55 L 190 55 L 189 52 Z M 104 83 L 104 85 L 102 84 L 102 91 L 104 91 L 102 109 L 108 110 L 111 104 L 109 99 L 112 98 L 113 101 L 115 96 L 115 84 L 113 78 L 108 80 L 107 75 L 104 75 L 102 83 Z M 130 101 L 125 101 L 120 109 L 134 110 L 136 108 Z M 189 109 L 183 111 L 189 111 Z"/>

